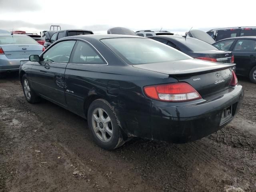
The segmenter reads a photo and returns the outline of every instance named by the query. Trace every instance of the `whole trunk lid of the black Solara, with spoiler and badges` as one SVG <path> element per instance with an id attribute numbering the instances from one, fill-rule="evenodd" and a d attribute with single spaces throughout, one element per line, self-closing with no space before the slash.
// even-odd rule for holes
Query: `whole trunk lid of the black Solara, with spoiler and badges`
<path id="1" fill-rule="evenodd" d="M 187 82 L 202 97 L 230 87 L 232 66 L 235 64 L 219 64 L 195 59 L 134 65 L 136 68 L 168 74 L 180 82 Z"/>

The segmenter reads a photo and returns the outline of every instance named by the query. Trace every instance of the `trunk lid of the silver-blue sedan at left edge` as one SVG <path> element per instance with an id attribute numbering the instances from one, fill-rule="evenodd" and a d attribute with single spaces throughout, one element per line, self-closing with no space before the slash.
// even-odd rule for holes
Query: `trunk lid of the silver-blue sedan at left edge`
<path id="1" fill-rule="evenodd" d="M 30 55 L 40 55 L 43 51 L 39 44 L 2 44 L 0 45 L 8 59 L 28 58 Z"/>

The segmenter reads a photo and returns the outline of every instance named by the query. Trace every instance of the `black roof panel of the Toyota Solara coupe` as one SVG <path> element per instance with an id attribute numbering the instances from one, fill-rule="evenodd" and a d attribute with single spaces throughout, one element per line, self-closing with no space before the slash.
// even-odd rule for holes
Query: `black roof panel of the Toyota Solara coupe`
<path id="1" fill-rule="evenodd" d="M 72 39 L 72 38 L 78 38 L 78 39 L 84 39 L 84 40 L 87 40 L 87 39 L 100 40 L 100 39 L 107 39 L 107 38 L 145 38 L 145 37 L 133 36 L 133 35 L 116 35 L 116 34 L 106 34 L 106 35 L 91 34 L 91 35 L 68 36 L 61 39 Z"/>

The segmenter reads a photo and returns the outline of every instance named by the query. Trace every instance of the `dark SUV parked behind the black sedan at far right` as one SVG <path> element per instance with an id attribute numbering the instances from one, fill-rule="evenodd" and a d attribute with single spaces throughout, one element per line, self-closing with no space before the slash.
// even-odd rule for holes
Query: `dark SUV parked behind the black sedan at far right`
<path id="1" fill-rule="evenodd" d="M 230 27 L 212 29 L 207 32 L 215 41 L 231 37 L 256 36 L 256 27 Z"/>

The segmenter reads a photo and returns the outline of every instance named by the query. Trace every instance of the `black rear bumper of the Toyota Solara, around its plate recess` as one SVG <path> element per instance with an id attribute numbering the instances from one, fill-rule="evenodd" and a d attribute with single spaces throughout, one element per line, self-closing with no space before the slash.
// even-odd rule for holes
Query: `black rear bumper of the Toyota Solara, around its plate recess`
<path id="1" fill-rule="evenodd" d="M 205 100 L 177 103 L 153 101 L 151 130 L 154 140 L 182 143 L 198 140 L 231 122 L 242 105 L 244 91 L 237 85 Z M 220 124 L 222 111 L 232 105 L 232 118 Z"/>

